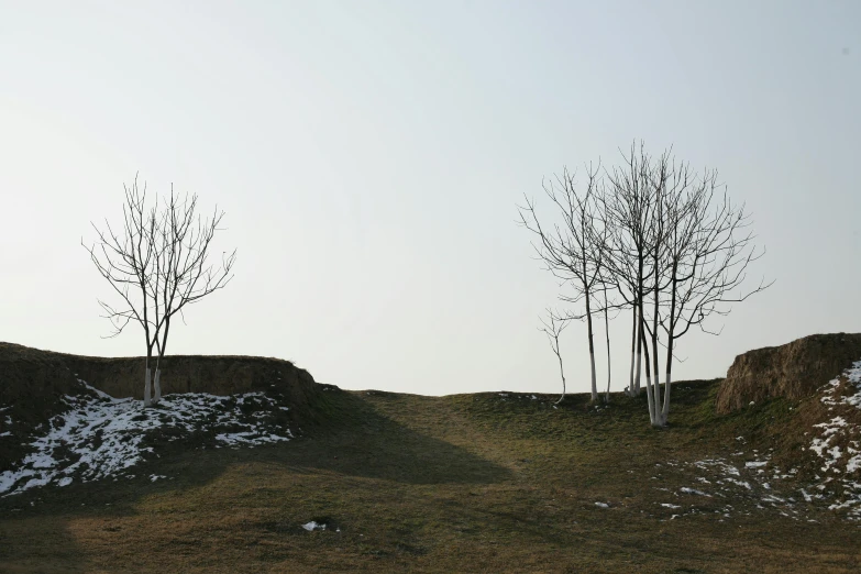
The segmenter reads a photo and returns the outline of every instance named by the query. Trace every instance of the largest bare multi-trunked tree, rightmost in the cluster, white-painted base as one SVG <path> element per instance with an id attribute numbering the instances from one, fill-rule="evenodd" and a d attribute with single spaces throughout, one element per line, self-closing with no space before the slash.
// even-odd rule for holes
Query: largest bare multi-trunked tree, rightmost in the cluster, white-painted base
<path id="1" fill-rule="evenodd" d="M 726 194 L 722 202 L 713 202 L 714 172 L 696 177 L 670 151 L 653 158 L 642 143 L 639 153 L 632 146 L 625 164 L 608 175 L 611 192 L 603 196 L 601 214 L 610 231 L 601 249 L 607 280 L 633 313 L 632 388 L 639 390 L 644 357 L 650 420 L 664 427 L 676 339 L 694 324 L 702 328 L 713 313 L 728 313 L 724 303 L 744 300 L 770 284 L 739 291 L 748 265 L 761 253 L 752 234 L 740 235 L 749 224 L 743 207 L 733 207 Z M 663 397 L 659 346 L 666 349 Z"/>

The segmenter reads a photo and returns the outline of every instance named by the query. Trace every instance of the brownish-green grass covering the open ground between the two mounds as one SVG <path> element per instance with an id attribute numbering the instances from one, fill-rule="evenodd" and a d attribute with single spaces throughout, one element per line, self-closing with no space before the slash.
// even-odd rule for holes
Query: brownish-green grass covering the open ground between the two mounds
<path id="1" fill-rule="evenodd" d="M 676 384 L 666 430 L 644 397 L 322 393 L 328 422 L 300 440 L 0 498 L 0 572 L 858 572 L 861 528 L 832 511 L 740 495 L 727 518 L 678 494 L 684 462 L 739 435 L 774 460 L 797 448 L 793 405 L 718 417 L 715 390 Z"/>

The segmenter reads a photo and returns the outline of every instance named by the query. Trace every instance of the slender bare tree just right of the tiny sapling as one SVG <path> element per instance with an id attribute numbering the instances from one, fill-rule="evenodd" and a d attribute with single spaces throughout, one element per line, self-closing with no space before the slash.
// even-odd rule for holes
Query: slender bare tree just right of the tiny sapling
<path id="1" fill-rule="evenodd" d="M 592 368 L 592 400 L 598 399 L 595 376 L 595 343 L 593 336 L 593 297 L 601 279 L 601 250 L 596 249 L 594 238 L 600 235 L 595 230 L 598 221 L 596 196 L 599 194 L 600 166 L 587 169 L 587 183 L 584 191 L 577 191 L 575 174 L 567 169 L 562 176 L 544 183 L 543 188 L 550 200 L 556 206 L 562 219 L 559 224 L 545 225 L 539 220 L 534 201 L 526 198 L 526 207 L 518 208 L 520 223 L 538 238 L 533 247 L 539 258 L 555 277 L 562 279 L 574 290 L 574 296 L 562 297 L 570 303 L 585 302 L 585 312 L 573 313 L 565 319 L 585 319 L 587 325 L 589 360 Z"/>

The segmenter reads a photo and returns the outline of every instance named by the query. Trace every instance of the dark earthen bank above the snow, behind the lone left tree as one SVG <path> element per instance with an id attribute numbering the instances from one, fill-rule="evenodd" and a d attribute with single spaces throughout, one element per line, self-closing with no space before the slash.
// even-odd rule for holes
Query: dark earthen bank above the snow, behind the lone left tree
<path id="1" fill-rule="evenodd" d="M 104 358 L 41 351 L 0 342 L 0 467 L 32 449 L 24 440 L 43 431 L 69 408 L 69 397 L 143 398 L 145 362 L 141 357 Z M 288 407 L 289 427 L 325 419 L 322 390 L 289 361 L 252 356 L 169 356 L 162 363 L 162 393 L 231 396 L 262 391 Z"/>

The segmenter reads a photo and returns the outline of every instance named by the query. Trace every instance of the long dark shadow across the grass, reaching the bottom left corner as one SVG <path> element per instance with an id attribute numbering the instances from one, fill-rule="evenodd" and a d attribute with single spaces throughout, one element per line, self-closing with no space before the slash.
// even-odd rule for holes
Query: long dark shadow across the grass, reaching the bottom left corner
<path id="1" fill-rule="evenodd" d="M 161 457 L 130 468 L 133 477 L 0 498 L 0 571 L 90 570 L 96 566 L 92 540 L 110 539 L 112 522 L 145 512 L 140 504 L 153 495 L 195 506 L 206 495 L 186 496 L 203 493 L 231 468 L 249 474 L 251 490 L 260 464 L 283 467 L 287 482 L 291 474 L 320 472 L 404 485 L 490 484 L 510 476 L 508 468 L 391 420 L 356 393 L 320 393 L 307 415 L 302 438 L 288 443 L 187 451 L 176 451 L 173 443 L 161 453 L 156 448 Z M 168 478 L 153 481 L 153 475 Z M 91 528 L 95 539 L 79 539 L 81 529 Z M 99 529 L 107 530 L 100 534 Z"/>

